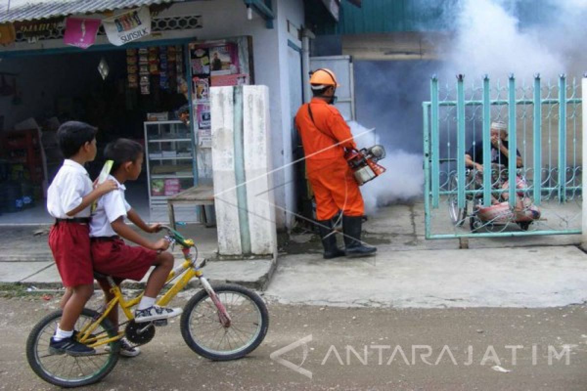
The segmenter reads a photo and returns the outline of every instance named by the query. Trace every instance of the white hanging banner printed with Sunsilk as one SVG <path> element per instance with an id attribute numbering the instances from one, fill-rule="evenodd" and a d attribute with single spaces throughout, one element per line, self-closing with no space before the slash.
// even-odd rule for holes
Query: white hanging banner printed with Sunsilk
<path id="1" fill-rule="evenodd" d="M 108 40 L 116 46 L 133 42 L 151 33 L 151 15 L 149 8 L 144 6 L 104 19 L 103 23 Z"/>

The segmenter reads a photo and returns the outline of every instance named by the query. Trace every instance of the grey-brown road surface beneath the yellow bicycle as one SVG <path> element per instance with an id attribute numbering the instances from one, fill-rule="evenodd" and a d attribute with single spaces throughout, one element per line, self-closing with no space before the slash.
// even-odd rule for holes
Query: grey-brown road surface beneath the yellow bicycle
<path id="1" fill-rule="evenodd" d="M 24 352 L 33 324 L 55 306 L 56 298 L 38 295 L 0 298 L 0 389 L 58 389 L 36 377 Z M 245 359 L 200 358 L 185 345 L 176 321 L 158 328 L 140 356 L 121 359 L 106 379 L 85 389 L 587 389 L 583 305 L 394 310 L 270 303 L 269 312 L 264 343 Z M 279 355 L 291 365 L 270 358 L 301 339 L 305 346 Z"/>

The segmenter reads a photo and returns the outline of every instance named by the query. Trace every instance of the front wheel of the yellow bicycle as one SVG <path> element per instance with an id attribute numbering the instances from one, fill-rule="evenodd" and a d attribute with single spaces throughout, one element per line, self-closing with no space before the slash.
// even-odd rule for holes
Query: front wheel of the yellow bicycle
<path id="1" fill-rule="evenodd" d="M 230 325 L 222 325 L 214 302 L 201 290 L 184 307 L 181 335 L 194 352 L 205 358 L 241 358 L 254 351 L 267 334 L 269 315 L 265 302 L 240 285 L 218 285 L 214 292 L 231 318 Z"/>

